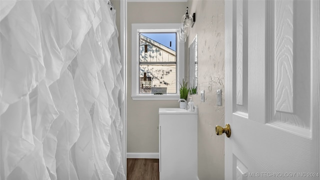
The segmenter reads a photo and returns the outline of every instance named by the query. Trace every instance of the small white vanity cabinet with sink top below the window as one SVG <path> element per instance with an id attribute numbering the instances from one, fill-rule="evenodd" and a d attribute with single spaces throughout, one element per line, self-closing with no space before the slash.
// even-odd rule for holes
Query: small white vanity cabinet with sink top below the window
<path id="1" fill-rule="evenodd" d="M 160 180 L 197 179 L 197 108 L 159 108 Z"/>

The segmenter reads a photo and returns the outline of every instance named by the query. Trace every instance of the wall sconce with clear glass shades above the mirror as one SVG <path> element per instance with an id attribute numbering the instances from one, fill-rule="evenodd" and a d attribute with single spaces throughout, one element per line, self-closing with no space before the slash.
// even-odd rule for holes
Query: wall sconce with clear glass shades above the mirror
<path id="1" fill-rule="evenodd" d="M 188 13 L 188 7 L 186 7 L 185 14 L 181 18 L 181 26 L 179 28 L 179 42 L 185 42 L 186 37 L 188 36 L 188 27 L 193 27 L 195 22 L 195 13 L 190 15 Z"/>

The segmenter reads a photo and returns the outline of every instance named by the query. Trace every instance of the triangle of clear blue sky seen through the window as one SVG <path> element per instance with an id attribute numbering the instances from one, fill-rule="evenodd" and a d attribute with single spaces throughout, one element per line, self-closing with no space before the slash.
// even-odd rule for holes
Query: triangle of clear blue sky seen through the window
<path id="1" fill-rule="evenodd" d="M 141 34 L 175 51 L 176 33 L 141 33 Z M 171 41 L 171 46 L 170 46 L 170 41 Z"/>

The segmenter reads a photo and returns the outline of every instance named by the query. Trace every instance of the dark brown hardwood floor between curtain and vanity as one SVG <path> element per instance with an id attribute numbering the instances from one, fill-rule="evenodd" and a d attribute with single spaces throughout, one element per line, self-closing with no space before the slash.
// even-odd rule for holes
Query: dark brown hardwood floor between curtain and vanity
<path id="1" fill-rule="evenodd" d="M 127 180 L 159 180 L 159 159 L 127 158 Z"/>

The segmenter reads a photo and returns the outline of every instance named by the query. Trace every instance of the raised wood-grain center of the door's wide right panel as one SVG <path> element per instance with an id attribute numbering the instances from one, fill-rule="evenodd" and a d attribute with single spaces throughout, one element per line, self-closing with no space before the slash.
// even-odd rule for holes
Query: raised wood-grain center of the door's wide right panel
<path id="1" fill-rule="evenodd" d="M 274 8 L 275 110 L 293 112 L 293 0 L 276 1 Z"/>

